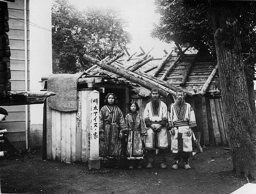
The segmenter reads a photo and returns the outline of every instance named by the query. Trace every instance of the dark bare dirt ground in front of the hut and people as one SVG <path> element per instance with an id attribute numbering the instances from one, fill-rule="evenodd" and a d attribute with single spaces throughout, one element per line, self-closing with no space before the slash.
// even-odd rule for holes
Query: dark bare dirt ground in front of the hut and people
<path id="1" fill-rule="evenodd" d="M 204 153 L 190 158 L 191 169 L 171 169 L 167 153 L 167 169 L 158 159 L 152 169 L 128 169 L 122 161 L 120 169 L 90 170 L 87 164 L 43 161 L 41 151 L 0 159 L 2 193 L 231 193 L 248 182 L 233 172 L 230 151 L 222 147 L 206 147 Z M 249 180 L 253 183 L 253 180 Z"/>

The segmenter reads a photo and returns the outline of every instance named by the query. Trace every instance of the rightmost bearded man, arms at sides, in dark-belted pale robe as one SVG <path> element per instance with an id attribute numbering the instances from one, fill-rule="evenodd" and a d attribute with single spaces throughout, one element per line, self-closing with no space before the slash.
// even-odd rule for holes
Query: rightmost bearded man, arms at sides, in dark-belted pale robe
<path id="1" fill-rule="evenodd" d="M 192 154 L 192 128 L 196 127 L 193 108 L 185 102 L 183 90 L 176 93 L 175 103 L 168 110 L 168 129 L 171 130 L 171 153 L 174 159 L 172 169 L 178 169 L 181 157 L 183 166 L 190 169 L 188 159 Z"/>

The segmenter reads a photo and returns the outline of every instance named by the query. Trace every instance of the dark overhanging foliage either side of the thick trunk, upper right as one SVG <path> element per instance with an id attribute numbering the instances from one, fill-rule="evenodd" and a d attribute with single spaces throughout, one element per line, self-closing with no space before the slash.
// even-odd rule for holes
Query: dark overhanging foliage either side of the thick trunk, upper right
<path id="1" fill-rule="evenodd" d="M 183 46 L 190 43 L 201 52 L 215 55 L 210 17 L 212 2 L 155 0 L 156 12 L 161 15 L 161 18 L 159 23 L 154 25 L 151 32 L 152 37 L 167 43 L 174 41 Z M 256 51 L 256 2 L 232 1 L 232 4 L 236 4 L 234 14 L 239 25 L 243 55 L 246 58 Z M 222 44 L 228 44 L 228 41 L 233 38 L 228 37 L 223 40 Z"/>

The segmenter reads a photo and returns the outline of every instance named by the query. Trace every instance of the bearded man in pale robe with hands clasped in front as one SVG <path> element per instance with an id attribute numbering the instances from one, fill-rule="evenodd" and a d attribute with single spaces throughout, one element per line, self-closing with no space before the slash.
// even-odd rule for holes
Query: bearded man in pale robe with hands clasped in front
<path id="1" fill-rule="evenodd" d="M 154 167 L 155 148 L 159 149 L 158 160 L 160 167 L 166 169 L 165 150 L 168 148 L 167 141 L 167 106 L 159 100 L 158 89 L 151 90 L 151 102 L 146 105 L 144 119 L 147 135 L 145 136 L 145 147 L 147 152 L 147 166 Z"/>

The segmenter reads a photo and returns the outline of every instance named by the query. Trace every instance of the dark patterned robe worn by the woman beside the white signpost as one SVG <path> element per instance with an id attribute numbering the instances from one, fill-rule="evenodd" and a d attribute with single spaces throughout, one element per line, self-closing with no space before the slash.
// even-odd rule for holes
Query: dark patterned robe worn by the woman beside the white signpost
<path id="1" fill-rule="evenodd" d="M 103 132 L 104 140 L 100 141 L 99 158 L 102 160 L 120 159 L 121 139 L 119 133 L 128 130 L 123 113 L 118 106 L 112 110 L 105 105 L 100 110 L 99 131 Z"/>

